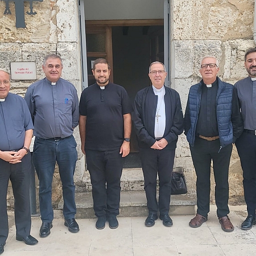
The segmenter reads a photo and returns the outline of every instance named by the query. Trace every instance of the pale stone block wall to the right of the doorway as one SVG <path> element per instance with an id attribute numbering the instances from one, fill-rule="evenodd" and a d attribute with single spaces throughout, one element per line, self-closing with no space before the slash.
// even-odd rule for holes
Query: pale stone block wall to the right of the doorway
<path id="1" fill-rule="evenodd" d="M 219 76 L 234 84 L 247 76 L 244 55 L 253 41 L 253 0 L 171 1 L 171 81 L 180 93 L 183 111 L 191 85 L 201 80 L 201 58 L 216 56 Z M 181 135 L 176 150 L 176 166 L 185 168 L 189 188 L 195 188 L 196 175 L 188 143 Z M 212 170 L 213 174 L 213 170 Z M 243 200 L 242 169 L 234 147 L 229 168 L 230 203 Z M 214 177 L 211 177 L 214 201 Z"/>

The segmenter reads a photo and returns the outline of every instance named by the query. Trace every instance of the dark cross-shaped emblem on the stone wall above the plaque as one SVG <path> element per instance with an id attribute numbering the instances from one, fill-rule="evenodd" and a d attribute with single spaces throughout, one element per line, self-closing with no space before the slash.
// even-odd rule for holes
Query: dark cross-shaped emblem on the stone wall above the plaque
<path id="1" fill-rule="evenodd" d="M 15 3 L 15 14 L 16 14 L 16 27 L 25 28 L 25 14 L 24 14 L 24 2 L 30 2 L 30 11 L 27 11 L 28 15 L 35 15 L 36 11 L 33 11 L 33 2 L 43 2 L 43 0 L 0 0 L 5 1 L 5 12 L 3 14 L 11 14 L 9 7 L 9 2 L 13 1 Z"/>

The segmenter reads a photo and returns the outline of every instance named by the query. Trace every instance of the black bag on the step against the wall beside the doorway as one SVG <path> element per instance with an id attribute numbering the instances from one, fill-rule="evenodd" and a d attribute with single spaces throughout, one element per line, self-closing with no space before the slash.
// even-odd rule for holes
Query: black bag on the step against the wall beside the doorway
<path id="1" fill-rule="evenodd" d="M 172 189 L 171 195 L 180 195 L 188 192 L 185 176 L 183 174 L 184 170 L 182 167 L 176 167 L 177 171 L 172 172 Z"/>

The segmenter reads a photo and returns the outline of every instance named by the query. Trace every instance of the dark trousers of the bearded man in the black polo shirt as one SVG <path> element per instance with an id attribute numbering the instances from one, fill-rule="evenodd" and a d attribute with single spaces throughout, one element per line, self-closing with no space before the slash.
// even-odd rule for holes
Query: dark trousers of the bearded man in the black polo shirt
<path id="1" fill-rule="evenodd" d="M 120 179 L 125 160 L 119 151 L 85 149 L 92 183 L 93 209 L 97 217 L 119 214 Z"/>

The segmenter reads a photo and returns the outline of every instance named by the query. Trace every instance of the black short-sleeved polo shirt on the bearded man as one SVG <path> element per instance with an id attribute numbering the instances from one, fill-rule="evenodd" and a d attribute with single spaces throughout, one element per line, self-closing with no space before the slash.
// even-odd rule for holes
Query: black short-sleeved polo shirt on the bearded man
<path id="1" fill-rule="evenodd" d="M 79 111 L 86 115 L 85 148 L 105 151 L 121 147 L 123 115 L 133 111 L 125 88 L 109 83 L 101 89 L 93 84 L 82 92 Z"/>

